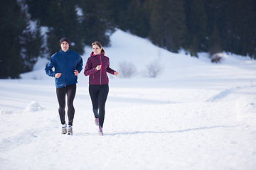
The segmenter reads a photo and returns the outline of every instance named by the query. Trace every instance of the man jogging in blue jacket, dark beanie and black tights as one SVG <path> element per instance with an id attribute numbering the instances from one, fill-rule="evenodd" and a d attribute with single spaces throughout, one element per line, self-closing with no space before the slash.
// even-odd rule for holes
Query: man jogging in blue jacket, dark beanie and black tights
<path id="1" fill-rule="evenodd" d="M 82 57 L 77 52 L 69 50 L 70 41 L 68 38 L 60 39 L 61 50 L 50 57 L 46 64 L 46 74 L 55 77 L 56 94 L 58 98 L 60 122 L 62 134 L 73 135 L 73 119 L 75 108 L 73 101 L 75 98 L 78 74 L 82 71 Z M 54 71 L 53 71 L 54 67 Z M 65 123 L 65 96 L 68 98 L 68 130 Z"/>

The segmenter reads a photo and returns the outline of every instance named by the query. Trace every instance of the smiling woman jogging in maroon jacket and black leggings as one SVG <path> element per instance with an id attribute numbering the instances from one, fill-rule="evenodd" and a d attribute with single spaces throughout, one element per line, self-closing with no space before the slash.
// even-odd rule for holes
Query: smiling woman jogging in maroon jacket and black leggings
<path id="1" fill-rule="evenodd" d="M 95 115 L 95 124 L 99 126 L 99 135 L 103 135 L 102 128 L 105 118 L 105 103 L 109 92 L 107 72 L 118 75 L 110 68 L 110 59 L 100 42 L 92 42 L 92 53 L 85 66 L 85 76 L 89 76 L 89 93 L 92 100 L 92 111 Z"/>

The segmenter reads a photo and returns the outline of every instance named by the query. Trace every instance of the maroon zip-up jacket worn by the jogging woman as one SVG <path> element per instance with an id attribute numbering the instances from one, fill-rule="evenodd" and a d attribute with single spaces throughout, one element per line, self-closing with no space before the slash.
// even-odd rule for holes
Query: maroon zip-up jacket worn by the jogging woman
<path id="1" fill-rule="evenodd" d="M 100 70 L 96 70 L 97 65 L 102 65 Z M 102 53 L 94 55 L 92 52 L 85 66 L 85 76 L 89 76 L 89 84 L 101 85 L 108 84 L 109 79 L 107 72 L 114 74 L 114 70 L 110 68 L 110 59 Z"/>

